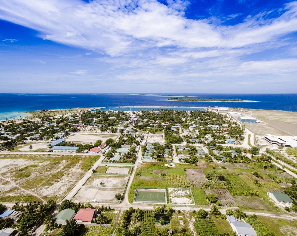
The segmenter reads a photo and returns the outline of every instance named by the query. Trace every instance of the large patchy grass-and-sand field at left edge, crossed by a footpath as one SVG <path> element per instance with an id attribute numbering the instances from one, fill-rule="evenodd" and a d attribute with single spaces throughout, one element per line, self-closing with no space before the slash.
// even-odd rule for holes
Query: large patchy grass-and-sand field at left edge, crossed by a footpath
<path id="1" fill-rule="evenodd" d="M 97 160 L 97 156 L 72 155 L 1 155 L 0 175 L 42 199 L 60 200 Z M 7 183 L 1 199 L 10 201 L 11 195 L 23 200 L 28 193 Z M 32 197 L 32 196 L 31 196 Z"/>

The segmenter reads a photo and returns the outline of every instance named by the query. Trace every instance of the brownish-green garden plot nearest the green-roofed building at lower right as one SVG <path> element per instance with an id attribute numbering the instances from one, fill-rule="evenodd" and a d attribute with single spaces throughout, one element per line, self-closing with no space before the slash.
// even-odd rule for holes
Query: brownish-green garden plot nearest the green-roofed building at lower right
<path id="1" fill-rule="evenodd" d="M 238 207 L 250 208 L 250 209 L 263 209 L 263 210 L 273 210 L 267 202 L 262 198 L 257 197 L 244 197 L 237 196 L 234 201 Z"/>

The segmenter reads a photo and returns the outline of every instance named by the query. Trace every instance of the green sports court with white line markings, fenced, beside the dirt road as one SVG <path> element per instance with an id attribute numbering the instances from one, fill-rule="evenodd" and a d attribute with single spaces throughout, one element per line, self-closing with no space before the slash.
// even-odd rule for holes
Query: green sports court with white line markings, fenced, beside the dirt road
<path id="1" fill-rule="evenodd" d="M 166 189 L 136 189 L 134 202 L 167 203 Z"/>

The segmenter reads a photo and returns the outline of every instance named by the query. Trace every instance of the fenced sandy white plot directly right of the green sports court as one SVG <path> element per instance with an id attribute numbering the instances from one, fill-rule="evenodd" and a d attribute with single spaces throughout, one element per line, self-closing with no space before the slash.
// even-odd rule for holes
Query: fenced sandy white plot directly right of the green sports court
<path id="1" fill-rule="evenodd" d="M 170 204 L 195 204 L 190 188 L 168 188 Z"/>

